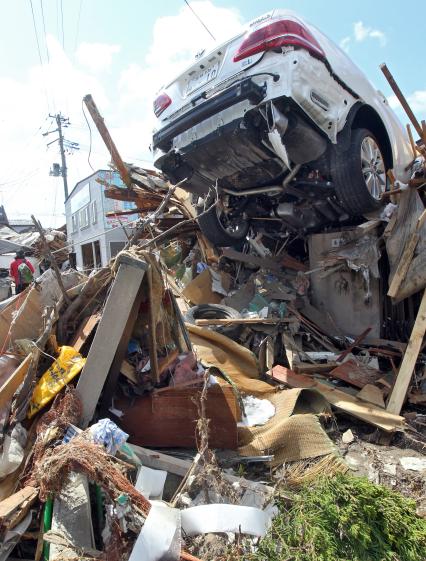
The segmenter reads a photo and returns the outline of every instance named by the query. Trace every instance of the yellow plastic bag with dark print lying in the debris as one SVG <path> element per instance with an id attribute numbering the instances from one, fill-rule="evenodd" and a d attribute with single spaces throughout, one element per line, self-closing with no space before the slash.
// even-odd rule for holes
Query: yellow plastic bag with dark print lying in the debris
<path id="1" fill-rule="evenodd" d="M 47 405 L 68 384 L 84 366 L 86 359 L 83 358 L 73 347 L 60 347 L 59 356 L 46 370 L 34 388 L 30 401 L 28 418 L 31 419 L 36 413 Z"/>

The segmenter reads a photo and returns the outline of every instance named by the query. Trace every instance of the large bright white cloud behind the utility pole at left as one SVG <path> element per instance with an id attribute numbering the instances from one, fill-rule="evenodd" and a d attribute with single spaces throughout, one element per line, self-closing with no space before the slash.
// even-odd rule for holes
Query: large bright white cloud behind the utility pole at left
<path id="1" fill-rule="evenodd" d="M 233 9 L 216 7 L 208 0 L 191 5 L 218 41 L 242 27 L 241 16 Z M 48 35 L 46 39 L 50 64 L 29 68 L 19 80 L 0 74 L 0 203 L 9 217 L 35 214 L 44 226 L 60 226 L 65 222 L 62 179 L 49 177 L 52 163 L 60 162 L 60 158 L 57 144 L 46 149 L 46 143 L 57 135 L 41 136 L 50 123 L 47 114 L 62 111 L 69 116 L 74 126 L 65 130 L 66 138 L 81 145 L 80 151 L 67 155 L 70 189 L 92 173 L 87 162 L 89 132 L 82 114 L 82 98 L 87 93 L 93 95 L 123 159 L 143 165 L 141 160 L 151 159 L 155 92 L 189 65 L 200 48 L 212 46 L 212 39 L 184 6 L 176 15 L 157 19 L 145 59 L 140 62 L 136 52 L 134 62 L 117 76 L 112 75 L 115 69 L 105 74 L 100 71 L 110 68 L 115 55 L 121 56 L 118 45 L 80 45 L 73 62 L 54 37 Z M 87 116 L 92 130 L 91 164 L 95 169 L 105 168 L 108 151 Z M 52 124 L 51 130 L 55 128 Z"/>

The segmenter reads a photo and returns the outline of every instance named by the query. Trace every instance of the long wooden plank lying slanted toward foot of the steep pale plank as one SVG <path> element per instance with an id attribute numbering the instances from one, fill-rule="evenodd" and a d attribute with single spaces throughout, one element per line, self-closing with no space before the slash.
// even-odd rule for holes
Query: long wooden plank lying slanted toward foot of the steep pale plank
<path id="1" fill-rule="evenodd" d="M 336 388 L 318 382 L 309 376 L 296 374 L 284 366 L 275 366 L 267 373 L 273 380 L 286 384 L 291 388 L 313 388 L 318 390 L 339 411 L 361 419 L 386 432 L 394 432 L 405 428 L 405 419 L 371 405 Z"/>

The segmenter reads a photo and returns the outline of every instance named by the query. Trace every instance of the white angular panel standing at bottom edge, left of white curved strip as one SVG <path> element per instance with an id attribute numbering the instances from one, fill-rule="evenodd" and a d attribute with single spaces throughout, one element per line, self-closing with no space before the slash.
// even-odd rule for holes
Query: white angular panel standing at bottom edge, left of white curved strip
<path id="1" fill-rule="evenodd" d="M 136 540 L 129 561 L 178 561 L 180 558 L 181 513 L 153 502 Z"/>

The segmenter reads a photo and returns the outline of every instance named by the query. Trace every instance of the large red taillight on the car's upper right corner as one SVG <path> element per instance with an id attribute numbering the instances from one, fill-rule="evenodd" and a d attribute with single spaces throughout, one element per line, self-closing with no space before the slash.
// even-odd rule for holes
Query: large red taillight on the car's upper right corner
<path id="1" fill-rule="evenodd" d="M 282 19 L 269 23 L 246 35 L 238 51 L 235 53 L 234 62 L 238 62 L 256 53 L 287 45 L 303 47 L 312 55 L 325 58 L 324 51 L 306 27 L 297 21 Z"/>

